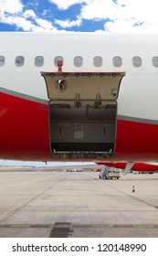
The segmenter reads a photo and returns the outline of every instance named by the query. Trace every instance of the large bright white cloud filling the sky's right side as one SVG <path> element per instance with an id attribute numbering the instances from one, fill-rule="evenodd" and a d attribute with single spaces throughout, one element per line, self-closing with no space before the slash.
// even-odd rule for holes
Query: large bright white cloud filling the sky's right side
<path id="1" fill-rule="evenodd" d="M 105 23 L 114 32 L 157 31 L 157 0 L 87 0 L 81 19 L 109 19 Z M 107 29 L 105 29 L 107 30 Z"/>

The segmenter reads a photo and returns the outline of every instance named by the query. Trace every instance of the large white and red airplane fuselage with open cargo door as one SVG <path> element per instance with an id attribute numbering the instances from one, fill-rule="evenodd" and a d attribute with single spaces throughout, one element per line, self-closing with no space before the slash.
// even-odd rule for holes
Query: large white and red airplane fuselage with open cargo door
<path id="1" fill-rule="evenodd" d="M 0 38 L 0 158 L 157 162 L 158 34 Z"/>

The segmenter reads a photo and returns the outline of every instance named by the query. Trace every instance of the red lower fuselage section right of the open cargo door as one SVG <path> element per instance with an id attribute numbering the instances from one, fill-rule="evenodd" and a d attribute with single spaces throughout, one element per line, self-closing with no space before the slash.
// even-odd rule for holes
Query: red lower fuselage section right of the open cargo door
<path id="1" fill-rule="evenodd" d="M 118 120 L 115 155 L 127 160 L 158 159 L 158 125 Z"/>

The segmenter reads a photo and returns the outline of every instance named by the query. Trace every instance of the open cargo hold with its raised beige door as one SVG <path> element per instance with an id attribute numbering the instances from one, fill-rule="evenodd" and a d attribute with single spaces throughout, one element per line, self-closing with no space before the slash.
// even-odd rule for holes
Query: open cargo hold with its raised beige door
<path id="1" fill-rule="evenodd" d="M 124 72 L 41 72 L 49 98 L 51 153 L 56 158 L 114 154 L 117 98 Z"/>

